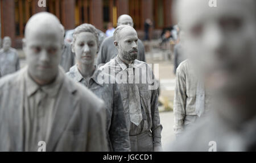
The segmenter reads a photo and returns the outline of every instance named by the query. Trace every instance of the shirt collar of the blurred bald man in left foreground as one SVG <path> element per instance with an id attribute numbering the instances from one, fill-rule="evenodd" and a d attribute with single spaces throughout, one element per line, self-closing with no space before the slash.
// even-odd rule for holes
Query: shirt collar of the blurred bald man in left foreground
<path id="1" fill-rule="evenodd" d="M 24 77 L 25 77 L 26 91 L 27 91 L 28 97 L 35 94 L 36 91 L 38 91 L 39 89 L 42 89 L 44 93 L 47 93 L 47 95 L 49 95 L 50 97 L 55 97 L 55 95 L 58 93 L 60 89 L 60 86 L 64 81 L 64 72 L 62 69 L 59 68 L 59 73 L 55 81 L 45 86 L 40 86 L 34 80 L 32 80 L 32 78 L 28 74 L 28 71 L 25 73 Z"/>

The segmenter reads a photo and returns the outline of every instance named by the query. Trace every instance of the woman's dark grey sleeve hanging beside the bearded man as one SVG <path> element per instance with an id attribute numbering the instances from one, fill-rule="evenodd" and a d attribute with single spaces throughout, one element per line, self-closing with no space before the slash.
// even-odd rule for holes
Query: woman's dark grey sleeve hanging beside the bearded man
<path id="1" fill-rule="evenodd" d="M 116 84 L 113 84 L 114 101 L 113 101 L 113 116 L 110 126 L 110 140 L 114 152 L 129 152 L 130 140 L 129 132 L 126 125 L 125 112 L 121 94 Z"/>

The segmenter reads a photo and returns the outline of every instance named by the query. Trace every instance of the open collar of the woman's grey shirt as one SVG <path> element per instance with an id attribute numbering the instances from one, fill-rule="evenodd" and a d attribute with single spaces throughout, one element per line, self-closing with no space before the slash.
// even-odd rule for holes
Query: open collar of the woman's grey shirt
<path id="1" fill-rule="evenodd" d="M 74 65 L 71 69 L 70 72 L 74 74 L 74 79 L 77 82 L 81 82 L 84 80 L 84 77 L 82 77 L 82 74 L 79 72 L 79 69 L 77 68 L 77 64 Z M 94 73 L 92 77 L 90 77 L 94 82 L 96 82 L 98 85 L 103 86 L 102 83 L 98 82 L 98 75 L 100 75 L 101 70 L 98 69 L 98 66 L 95 66 Z"/>

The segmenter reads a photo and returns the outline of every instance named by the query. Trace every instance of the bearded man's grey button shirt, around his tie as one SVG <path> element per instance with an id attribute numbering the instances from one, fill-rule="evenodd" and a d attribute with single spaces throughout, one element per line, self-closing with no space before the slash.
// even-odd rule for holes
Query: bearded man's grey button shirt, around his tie
<path id="1" fill-rule="evenodd" d="M 142 61 L 134 60 L 133 62 L 135 71 L 140 71 L 143 69 L 139 76 L 135 78 L 142 78 L 148 76 L 154 76 L 152 70 L 148 64 Z M 145 69 L 146 68 L 146 69 Z M 114 74 L 117 77 L 117 74 L 127 74 L 127 65 L 124 64 L 118 56 L 110 60 L 104 66 L 100 68 L 108 74 Z M 118 81 L 119 82 L 119 81 Z M 119 90 L 121 92 L 123 107 L 125 108 L 127 127 L 129 129 L 129 135 L 135 136 L 139 135 L 146 131 L 151 131 L 154 141 L 154 146 L 161 145 L 161 132 L 162 125 L 160 124 L 159 110 L 158 110 L 158 89 L 148 89 L 150 83 L 135 83 L 138 85 L 138 94 L 140 95 L 141 101 L 141 110 L 142 110 L 142 121 L 139 126 L 136 126 L 134 123 L 130 122 L 129 115 L 129 101 L 135 100 L 134 97 L 129 97 L 129 83 L 118 83 Z"/>

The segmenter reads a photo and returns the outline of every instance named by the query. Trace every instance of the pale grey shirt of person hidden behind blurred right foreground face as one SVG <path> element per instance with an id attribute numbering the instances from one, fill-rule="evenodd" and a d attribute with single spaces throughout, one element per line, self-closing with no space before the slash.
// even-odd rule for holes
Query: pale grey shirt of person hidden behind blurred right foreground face
<path id="1" fill-rule="evenodd" d="M 174 133 L 179 134 L 183 129 L 193 123 L 199 117 L 196 111 L 197 77 L 191 62 L 181 62 L 176 71 L 176 83 L 174 94 Z M 210 110 L 209 91 L 205 90 L 204 116 Z"/>

